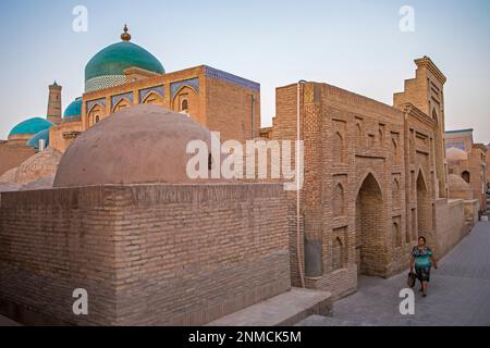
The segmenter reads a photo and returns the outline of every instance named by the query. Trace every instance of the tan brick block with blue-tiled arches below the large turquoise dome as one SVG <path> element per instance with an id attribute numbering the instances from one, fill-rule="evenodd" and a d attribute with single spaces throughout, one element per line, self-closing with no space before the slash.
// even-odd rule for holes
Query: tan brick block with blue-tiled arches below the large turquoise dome
<path id="1" fill-rule="evenodd" d="M 260 85 L 206 65 L 85 94 L 82 129 L 139 103 L 186 112 L 225 140 L 259 136 Z"/>

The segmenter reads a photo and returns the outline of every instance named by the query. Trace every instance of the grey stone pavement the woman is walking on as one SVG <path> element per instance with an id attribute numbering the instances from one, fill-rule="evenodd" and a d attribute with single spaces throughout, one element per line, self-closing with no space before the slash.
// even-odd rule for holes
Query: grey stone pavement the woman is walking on
<path id="1" fill-rule="evenodd" d="M 416 294 L 415 315 L 400 314 L 404 273 L 390 279 L 363 277 L 359 291 L 335 302 L 331 318 L 314 315 L 298 325 L 490 325 L 490 223 L 475 226 L 439 266 L 429 296 Z"/>

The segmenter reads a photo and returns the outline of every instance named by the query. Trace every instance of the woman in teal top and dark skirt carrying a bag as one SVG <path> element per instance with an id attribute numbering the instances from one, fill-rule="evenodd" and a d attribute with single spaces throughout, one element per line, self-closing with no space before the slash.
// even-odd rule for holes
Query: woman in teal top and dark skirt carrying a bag
<path id="1" fill-rule="evenodd" d="M 430 283 L 430 270 L 433 266 L 438 269 L 438 263 L 433 257 L 432 250 L 426 246 L 426 237 L 418 238 L 418 245 L 414 247 L 412 251 L 411 271 L 417 273 L 417 277 L 420 281 L 420 291 L 424 297 L 427 297 L 427 290 Z"/>

